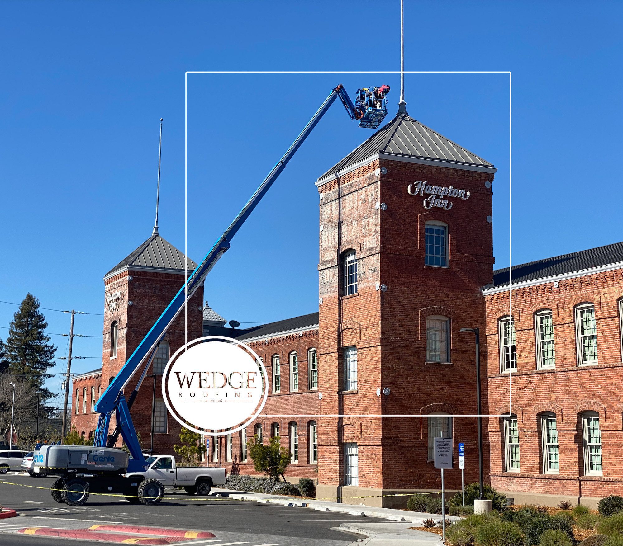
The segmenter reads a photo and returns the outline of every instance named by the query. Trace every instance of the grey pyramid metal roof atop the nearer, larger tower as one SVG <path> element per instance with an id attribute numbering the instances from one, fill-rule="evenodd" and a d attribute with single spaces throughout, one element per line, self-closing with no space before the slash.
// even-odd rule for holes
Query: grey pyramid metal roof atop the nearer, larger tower
<path id="1" fill-rule="evenodd" d="M 493 164 L 478 157 L 476 154 L 452 142 L 441 134 L 433 131 L 423 123 L 409 117 L 406 113 L 398 113 L 396 117 L 376 131 L 361 146 L 354 149 L 348 156 L 325 172 L 318 180 L 343 171 L 378 153 L 394 154 L 412 158 L 432 159 L 457 164 L 480 167 L 493 167 Z"/>

